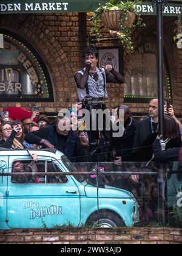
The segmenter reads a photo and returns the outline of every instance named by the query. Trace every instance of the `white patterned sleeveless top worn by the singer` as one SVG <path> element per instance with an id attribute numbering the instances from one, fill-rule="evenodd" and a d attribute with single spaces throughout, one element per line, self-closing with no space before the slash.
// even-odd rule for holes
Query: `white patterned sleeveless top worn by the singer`
<path id="1" fill-rule="evenodd" d="M 104 68 L 101 68 L 101 70 L 103 71 L 104 77 L 105 77 L 105 81 L 106 81 L 106 71 Z M 78 71 L 77 73 L 81 74 L 82 76 L 84 75 L 84 71 L 86 71 L 86 68 L 84 68 L 81 71 Z M 105 88 L 104 90 L 104 79 L 103 79 L 103 74 L 101 73 L 101 71 L 99 70 L 99 68 L 96 68 L 96 73 L 98 74 L 98 80 L 95 81 L 92 76 L 88 77 L 88 88 L 89 88 L 89 96 L 93 97 L 93 98 L 99 98 L 99 97 L 108 97 L 107 96 L 107 90 Z M 81 101 L 81 99 L 86 98 L 87 96 L 87 91 L 86 88 L 81 89 L 78 88 L 78 98 L 79 101 Z"/>

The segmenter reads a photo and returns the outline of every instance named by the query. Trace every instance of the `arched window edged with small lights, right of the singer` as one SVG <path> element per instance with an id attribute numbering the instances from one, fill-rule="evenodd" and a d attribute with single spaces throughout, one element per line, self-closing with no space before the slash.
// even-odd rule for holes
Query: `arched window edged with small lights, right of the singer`
<path id="1" fill-rule="evenodd" d="M 130 55 L 125 71 L 125 102 L 149 102 L 157 98 L 157 43 L 156 36 L 142 38 L 135 52 Z M 171 98 L 169 66 L 164 49 L 164 98 Z"/>

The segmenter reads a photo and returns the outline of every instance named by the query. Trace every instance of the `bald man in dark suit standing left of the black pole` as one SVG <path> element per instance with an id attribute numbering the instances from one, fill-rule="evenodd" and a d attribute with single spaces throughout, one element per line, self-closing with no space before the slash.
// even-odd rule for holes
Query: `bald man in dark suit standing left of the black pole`
<path id="1" fill-rule="evenodd" d="M 152 99 L 149 104 L 149 117 L 140 121 L 136 129 L 133 144 L 133 152 L 135 152 L 133 161 L 148 161 L 152 158 L 152 144 L 157 137 L 157 128 L 158 99 Z"/>

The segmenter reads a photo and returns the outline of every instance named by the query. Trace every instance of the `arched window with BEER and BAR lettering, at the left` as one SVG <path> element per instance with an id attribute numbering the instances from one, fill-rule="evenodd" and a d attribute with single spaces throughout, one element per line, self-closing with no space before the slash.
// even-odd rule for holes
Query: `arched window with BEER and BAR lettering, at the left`
<path id="1" fill-rule="evenodd" d="M 49 73 L 40 57 L 24 43 L 3 34 L 0 48 L 1 101 L 50 101 L 52 90 Z"/>

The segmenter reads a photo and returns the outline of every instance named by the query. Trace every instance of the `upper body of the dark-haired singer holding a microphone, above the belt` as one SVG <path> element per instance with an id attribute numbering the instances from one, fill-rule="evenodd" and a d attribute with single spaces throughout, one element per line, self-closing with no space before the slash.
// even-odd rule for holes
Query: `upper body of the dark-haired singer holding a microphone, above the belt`
<path id="1" fill-rule="evenodd" d="M 85 68 L 78 71 L 74 78 L 78 87 L 78 98 L 82 101 L 90 98 L 108 97 L 106 83 L 123 84 L 123 76 L 113 69 L 112 65 L 97 68 L 98 50 L 96 48 L 86 48 L 83 52 Z"/>

